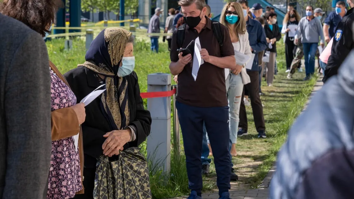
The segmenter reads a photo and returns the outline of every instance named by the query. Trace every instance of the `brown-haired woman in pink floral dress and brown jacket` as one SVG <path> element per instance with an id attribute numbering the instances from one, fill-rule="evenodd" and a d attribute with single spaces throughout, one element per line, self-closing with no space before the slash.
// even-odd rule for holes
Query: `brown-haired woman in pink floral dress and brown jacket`
<path id="1" fill-rule="evenodd" d="M 50 34 L 61 3 L 60 0 L 4 0 L 0 3 L 0 12 L 28 25 L 45 39 Z M 68 199 L 84 191 L 81 175 L 84 156 L 79 132 L 80 124 L 85 121 L 85 107 L 76 104 L 76 97 L 63 75 L 52 62 L 48 62 L 51 75 L 52 156 L 47 198 Z M 78 134 L 76 146 L 73 136 Z"/>

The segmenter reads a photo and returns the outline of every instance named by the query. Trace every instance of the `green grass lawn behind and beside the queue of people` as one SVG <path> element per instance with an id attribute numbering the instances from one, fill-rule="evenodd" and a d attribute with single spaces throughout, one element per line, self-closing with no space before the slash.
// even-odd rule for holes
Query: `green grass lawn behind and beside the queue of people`
<path id="1" fill-rule="evenodd" d="M 64 40 L 55 39 L 47 42 L 50 60 L 64 74 L 76 68 L 78 64 L 85 62 L 85 42 L 74 39 L 73 49 L 64 49 Z M 162 38 L 160 38 L 162 39 Z M 147 92 L 147 75 L 163 72 L 170 73 L 170 56 L 167 51 L 167 43 L 160 43 L 160 53 L 150 51 L 148 38 L 138 37 L 134 45 L 136 58 L 135 71 L 139 78 L 141 92 Z M 236 149 L 239 156 L 233 158 L 234 168 L 239 175 L 239 181 L 232 184 L 232 189 L 255 188 L 273 165 L 279 147 L 286 139 L 286 132 L 294 118 L 301 112 L 308 95 L 314 85 L 314 80 L 309 82 L 301 81 L 304 73 L 296 73 L 293 80 L 287 80 L 285 74 L 285 53 L 284 45 L 277 43 L 278 49 L 278 70 L 279 75 L 275 76 L 273 87 L 267 87 L 262 82 L 262 96 L 264 107 L 264 118 L 267 129 L 267 139 L 257 139 L 253 122 L 251 107 L 247 107 L 249 121 L 249 134 L 238 139 Z M 175 84 L 172 80 L 172 84 Z M 146 107 L 146 99 L 144 99 Z M 172 118 L 171 118 L 172 121 Z M 173 128 L 171 128 L 173 129 Z M 173 136 L 171 136 L 173 137 Z M 181 145 L 182 145 L 181 141 Z M 141 146 L 146 154 L 146 142 Z M 181 146 L 183 151 L 183 145 Z M 212 165 L 213 166 L 213 165 Z M 150 184 L 154 199 L 179 197 L 189 193 L 185 157 L 171 152 L 171 173 L 161 172 L 160 167 L 149 163 Z M 212 170 L 214 170 L 212 168 Z M 215 172 L 204 178 L 204 192 L 215 188 Z"/>

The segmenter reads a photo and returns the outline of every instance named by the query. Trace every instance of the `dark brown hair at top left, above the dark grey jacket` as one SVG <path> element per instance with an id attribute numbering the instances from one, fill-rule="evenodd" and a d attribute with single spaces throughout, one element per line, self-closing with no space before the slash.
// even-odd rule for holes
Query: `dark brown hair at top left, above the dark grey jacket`
<path id="1" fill-rule="evenodd" d="M 3 0 L 0 2 L 0 13 L 17 19 L 45 36 L 61 7 L 62 0 Z"/>

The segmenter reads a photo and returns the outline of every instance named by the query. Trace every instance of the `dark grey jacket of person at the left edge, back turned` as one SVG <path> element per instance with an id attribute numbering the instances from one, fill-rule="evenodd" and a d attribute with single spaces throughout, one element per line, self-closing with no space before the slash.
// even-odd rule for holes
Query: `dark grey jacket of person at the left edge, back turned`
<path id="1" fill-rule="evenodd" d="M 44 199 L 51 158 L 46 45 L 0 14 L 0 199 Z"/>

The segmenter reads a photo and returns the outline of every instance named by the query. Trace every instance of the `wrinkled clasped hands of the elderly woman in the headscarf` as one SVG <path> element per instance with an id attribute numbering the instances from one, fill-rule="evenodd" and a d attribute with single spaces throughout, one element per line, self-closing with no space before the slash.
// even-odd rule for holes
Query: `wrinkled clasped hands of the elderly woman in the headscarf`
<path id="1" fill-rule="evenodd" d="M 102 145 L 103 154 L 108 157 L 118 155 L 119 150 L 123 150 L 123 146 L 130 141 L 131 134 L 132 132 L 128 128 L 126 130 L 113 130 L 103 135 L 103 137 L 107 137 Z"/>

